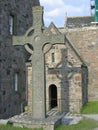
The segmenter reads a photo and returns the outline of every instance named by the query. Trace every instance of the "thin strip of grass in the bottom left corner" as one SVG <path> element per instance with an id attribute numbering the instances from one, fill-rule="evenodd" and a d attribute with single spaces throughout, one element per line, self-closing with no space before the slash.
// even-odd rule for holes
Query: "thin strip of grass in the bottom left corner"
<path id="1" fill-rule="evenodd" d="M 43 130 L 43 129 L 28 129 L 28 128 L 13 127 L 12 125 L 0 124 L 0 130 Z"/>

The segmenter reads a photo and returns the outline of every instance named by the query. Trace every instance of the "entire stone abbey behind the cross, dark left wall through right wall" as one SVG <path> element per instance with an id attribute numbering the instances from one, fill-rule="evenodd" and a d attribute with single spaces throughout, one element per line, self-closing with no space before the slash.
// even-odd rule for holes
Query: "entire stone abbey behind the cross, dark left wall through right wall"
<path id="1" fill-rule="evenodd" d="M 32 26 L 32 6 L 38 0 L 0 1 L 0 118 L 32 107 L 32 68 L 24 47 L 13 46 Z M 53 23 L 49 31 L 65 34 L 65 44 L 45 53 L 46 111 L 79 112 L 87 101 L 98 100 L 98 27 L 93 17 L 70 17 L 65 27 Z"/>

